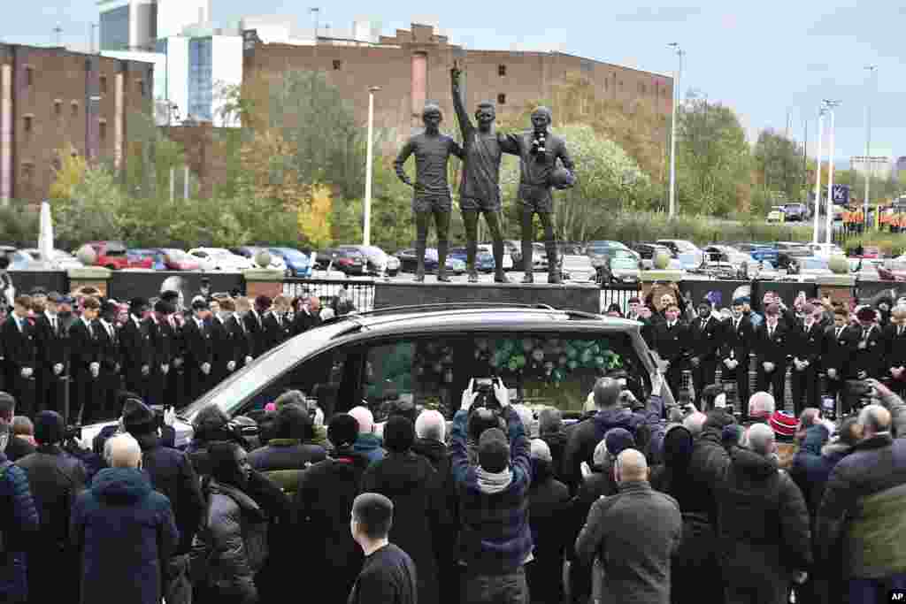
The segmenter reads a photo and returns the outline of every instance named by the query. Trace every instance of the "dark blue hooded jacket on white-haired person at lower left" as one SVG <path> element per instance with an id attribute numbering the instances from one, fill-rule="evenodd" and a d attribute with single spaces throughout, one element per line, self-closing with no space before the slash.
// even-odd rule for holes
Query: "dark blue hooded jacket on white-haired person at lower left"
<path id="1" fill-rule="evenodd" d="M 164 564 L 179 533 L 166 496 L 141 470 L 106 468 L 72 509 L 72 543 L 82 558 L 82 602 L 116 594 L 123 602 L 159 604 Z"/>

